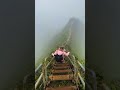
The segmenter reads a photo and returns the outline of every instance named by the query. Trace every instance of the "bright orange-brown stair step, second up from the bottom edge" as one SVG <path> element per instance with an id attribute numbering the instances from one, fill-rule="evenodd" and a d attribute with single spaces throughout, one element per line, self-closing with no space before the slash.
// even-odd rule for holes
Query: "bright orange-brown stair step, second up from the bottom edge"
<path id="1" fill-rule="evenodd" d="M 67 75 L 51 75 L 49 76 L 49 79 L 51 81 L 55 80 L 72 80 L 73 79 L 73 74 L 67 74 Z"/>

